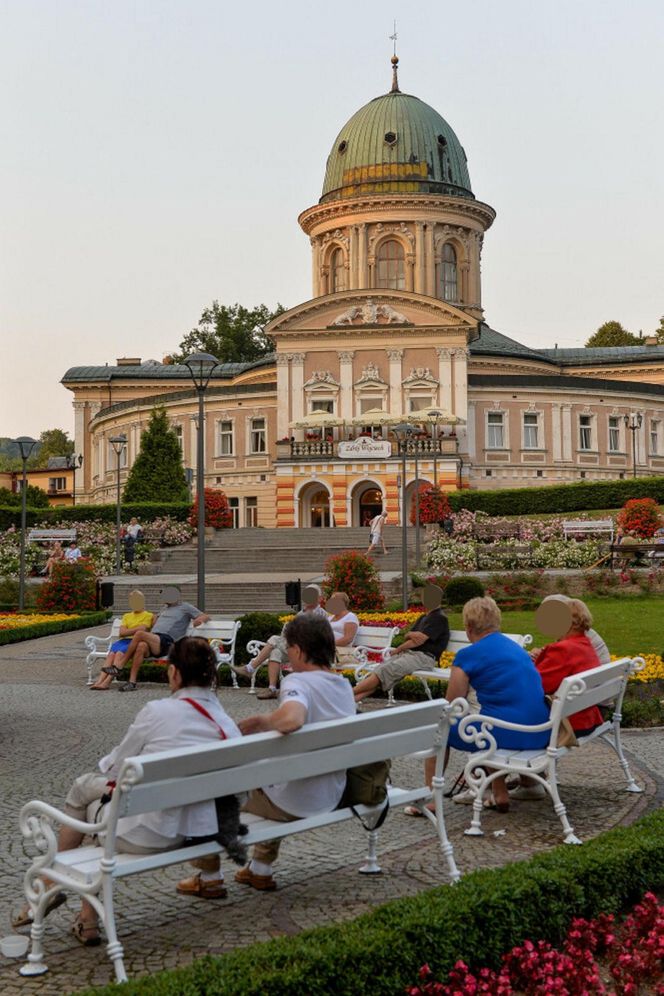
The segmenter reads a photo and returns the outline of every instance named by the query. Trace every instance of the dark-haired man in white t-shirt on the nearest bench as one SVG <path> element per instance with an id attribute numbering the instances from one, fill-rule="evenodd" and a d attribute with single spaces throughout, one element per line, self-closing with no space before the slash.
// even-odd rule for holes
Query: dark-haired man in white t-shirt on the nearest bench
<path id="1" fill-rule="evenodd" d="M 238 726 L 245 736 L 273 730 L 294 733 L 310 723 L 344 719 L 355 713 L 350 683 L 332 671 L 335 647 L 327 620 L 311 613 L 298 615 L 288 623 L 284 635 L 293 673 L 282 681 L 279 706 L 273 712 L 240 720 Z M 339 805 L 345 785 L 345 771 L 265 785 L 250 792 L 242 809 L 279 822 L 330 813 Z M 237 872 L 235 881 L 261 892 L 276 889 L 272 866 L 280 843 L 280 840 L 266 840 L 255 844 L 251 861 Z M 219 877 L 217 855 L 199 858 L 192 864 L 201 869 L 203 883 L 214 883 Z M 183 885 L 180 883 L 178 891 L 187 891 Z"/>

